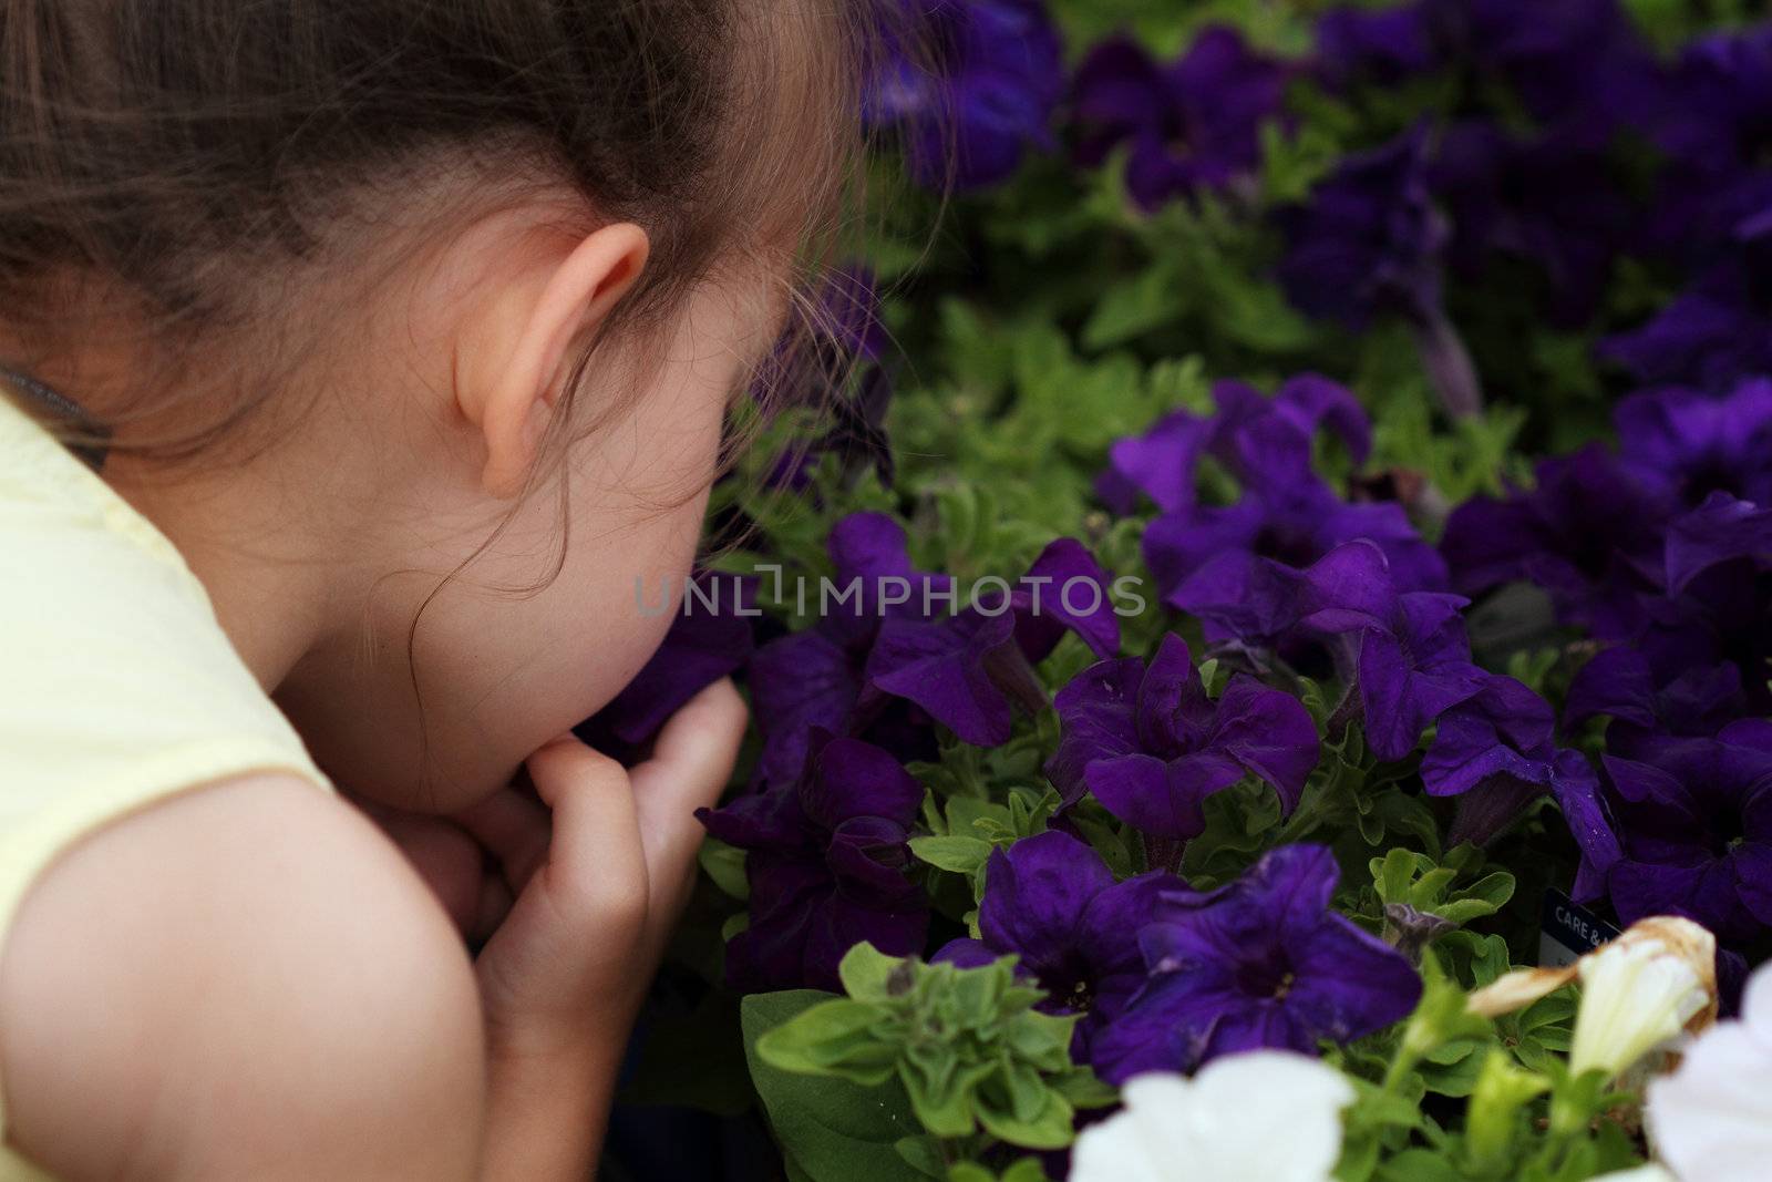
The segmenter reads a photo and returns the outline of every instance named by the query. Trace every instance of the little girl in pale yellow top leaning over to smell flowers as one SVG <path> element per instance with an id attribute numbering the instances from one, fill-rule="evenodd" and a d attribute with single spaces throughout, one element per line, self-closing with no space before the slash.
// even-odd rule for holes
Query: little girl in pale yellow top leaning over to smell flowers
<path id="1" fill-rule="evenodd" d="M 744 707 L 571 727 L 828 253 L 849 7 L 0 0 L 0 1178 L 594 1170 Z"/>

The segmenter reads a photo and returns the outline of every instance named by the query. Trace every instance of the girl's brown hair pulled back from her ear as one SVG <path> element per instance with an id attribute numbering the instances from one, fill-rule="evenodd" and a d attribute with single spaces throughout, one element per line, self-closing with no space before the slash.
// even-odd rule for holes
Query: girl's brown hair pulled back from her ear
<path id="1" fill-rule="evenodd" d="M 177 429 L 113 448 L 188 459 L 326 353 L 337 317 L 289 308 L 342 261 L 372 282 L 390 225 L 565 193 L 652 239 L 571 399 L 734 252 L 829 259 L 867 4 L 0 0 L 0 323 L 35 354 L 4 360 L 129 333 L 105 416 Z"/>

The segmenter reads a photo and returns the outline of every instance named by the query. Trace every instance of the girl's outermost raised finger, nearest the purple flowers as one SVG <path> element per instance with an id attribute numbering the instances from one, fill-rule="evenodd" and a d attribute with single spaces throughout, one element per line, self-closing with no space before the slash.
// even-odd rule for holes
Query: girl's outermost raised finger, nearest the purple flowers
<path id="1" fill-rule="evenodd" d="M 702 842 L 695 810 L 719 799 L 748 718 L 732 679 L 721 677 L 672 714 L 652 746 L 652 758 L 633 769 L 640 831 L 654 867 L 672 868 L 693 859 Z"/>

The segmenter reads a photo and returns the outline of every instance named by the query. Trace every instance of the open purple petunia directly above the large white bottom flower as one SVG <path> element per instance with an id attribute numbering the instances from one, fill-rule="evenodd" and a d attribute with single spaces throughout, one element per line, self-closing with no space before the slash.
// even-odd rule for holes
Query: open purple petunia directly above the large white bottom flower
<path id="1" fill-rule="evenodd" d="M 1164 895 L 1139 932 L 1150 980 L 1093 1042 L 1100 1076 L 1193 1070 L 1258 1047 L 1315 1054 L 1324 1038 L 1405 1017 L 1421 978 L 1329 909 L 1338 877 L 1325 847 L 1283 845 L 1209 895 Z"/>

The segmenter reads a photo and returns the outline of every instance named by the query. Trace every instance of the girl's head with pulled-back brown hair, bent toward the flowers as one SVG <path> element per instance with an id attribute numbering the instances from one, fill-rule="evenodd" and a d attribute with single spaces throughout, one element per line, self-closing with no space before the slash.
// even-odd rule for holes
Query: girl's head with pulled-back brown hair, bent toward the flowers
<path id="1" fill-rule="evenodd" d="M 342 785 L 464 805 L 645 663 L 828 261 L 859 4 L 0 0 L 0 362 Z"/>

